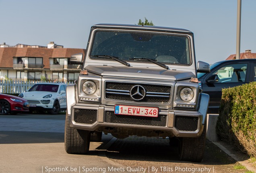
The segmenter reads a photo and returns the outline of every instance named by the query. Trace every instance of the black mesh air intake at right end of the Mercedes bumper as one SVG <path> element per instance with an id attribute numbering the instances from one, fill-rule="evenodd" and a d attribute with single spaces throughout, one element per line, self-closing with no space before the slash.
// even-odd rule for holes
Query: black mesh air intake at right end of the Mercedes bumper
<path id="1" fill-rule="evenodd" d="M 198 117 L 175 116 L 175 127 L 180 131 L 196 131 Z"/>

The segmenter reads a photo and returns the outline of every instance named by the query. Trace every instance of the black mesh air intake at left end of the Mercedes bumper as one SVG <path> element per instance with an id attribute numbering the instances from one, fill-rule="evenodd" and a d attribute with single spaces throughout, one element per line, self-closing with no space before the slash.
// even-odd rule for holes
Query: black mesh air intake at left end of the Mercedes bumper
<path id="1" fill-rule="evenodd" d="M 97 110 L 74 109 L 74 121 L 76 123 L 93 124 L 97 121 Z"/>

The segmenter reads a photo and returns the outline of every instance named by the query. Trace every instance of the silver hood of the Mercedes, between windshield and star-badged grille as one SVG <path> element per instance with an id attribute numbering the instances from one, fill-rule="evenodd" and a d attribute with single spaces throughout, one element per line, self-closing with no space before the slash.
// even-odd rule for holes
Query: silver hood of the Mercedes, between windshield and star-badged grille
<path id="1" fill-rule="evenodd" d="M 134 78 L 151 78 L 163 80 L 185 80 L 195 77 L 192 72 L 181 70 L 166 70 L 159 68 L 141 68 L 127 66 L 86 66 L 88 72 L 98 74 L 100 76 L 119 76 Z"/>

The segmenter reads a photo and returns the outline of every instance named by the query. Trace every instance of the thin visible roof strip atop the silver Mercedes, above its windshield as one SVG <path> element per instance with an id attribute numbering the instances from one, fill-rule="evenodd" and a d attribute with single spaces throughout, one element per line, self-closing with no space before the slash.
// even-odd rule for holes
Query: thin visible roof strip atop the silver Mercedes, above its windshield
<path id="1" fill-rule="evenodd" d="M 137 29 L 148 29 L 148 30 L 167 30 L 175 32 L 189 32 L 191 31 L 182 28 L 170 28 L 163 26 L 149 26 L 149 25 L 131 25 L 131 24 L 95 24 L 95 27 L 113 27 L 113 28 L 137 28 Z"/>

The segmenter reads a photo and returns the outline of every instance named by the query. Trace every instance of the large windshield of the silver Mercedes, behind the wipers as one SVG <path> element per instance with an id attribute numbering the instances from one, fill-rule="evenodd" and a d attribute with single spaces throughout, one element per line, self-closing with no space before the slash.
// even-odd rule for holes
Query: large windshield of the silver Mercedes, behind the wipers
<path id="1" fill-rule="evenodd" d="M 187 36 L 99 30 L 95 32 L 90 58 L 108 55 L 130 62 L 149 58 L 164 64 L 188 65 L 189 47 Z"/>

